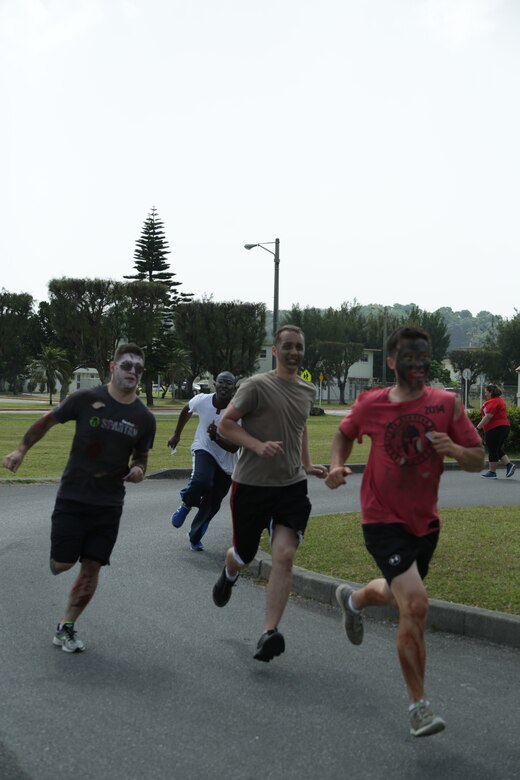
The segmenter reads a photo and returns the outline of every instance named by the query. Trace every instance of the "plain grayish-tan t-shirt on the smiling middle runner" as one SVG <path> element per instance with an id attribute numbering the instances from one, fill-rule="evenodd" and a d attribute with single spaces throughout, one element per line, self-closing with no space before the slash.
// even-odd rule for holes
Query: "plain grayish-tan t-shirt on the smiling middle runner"
<path id="1" fill-rule="evenodd" d="M 260 441 L 283 442 L 283 455 L 261 458 L 242 448 L 233 480 L 243 485 L 293 485 L 306 478 L 302 466 L 302 437 L 316 398 L 314 385 L 297 377 L 281 379 L 276 371 L 246 379 L 232 400 L 242 427 Z"/>

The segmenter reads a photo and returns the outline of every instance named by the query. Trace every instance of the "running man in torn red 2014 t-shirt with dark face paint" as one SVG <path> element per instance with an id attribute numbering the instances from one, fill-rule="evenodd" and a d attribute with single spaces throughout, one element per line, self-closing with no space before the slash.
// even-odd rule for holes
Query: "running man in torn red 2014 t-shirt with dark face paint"
<path id="1" fill-rule="evenodd" d="M 387 354 L 396 384 L 358 398 L 335 434 L 326 479 L 332 489 L 344 485 L 352 473 L 345 461 L 354 441 L 370 436 L 361 484 L 363 536 L 383 578 L 357 591 L 340 585 L 336 598 L 355 645 L 363 641 L 365 607 L 398 608 L 397 652 L 410 700 L 410 733 L 427 736 L 445 727 L 424 692 L 428 596 L 423 584 L 439 536 L 443 459 L 480 471 L 484 452 L 459 399 L 425 384 L 431 361 L 426 331 L 398 328 L 388 339 Z"/>

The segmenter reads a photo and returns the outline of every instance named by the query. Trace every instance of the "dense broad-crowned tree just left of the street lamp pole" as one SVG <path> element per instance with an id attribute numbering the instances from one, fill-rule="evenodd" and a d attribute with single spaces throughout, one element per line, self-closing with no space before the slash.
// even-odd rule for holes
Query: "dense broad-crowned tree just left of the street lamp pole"
<path id="1" fill-rule="evenodd" d="M 214 378 L 221 371 L 237 378 L 253 373 L 265 343 L 263 303 L 204 299 L 178 306 L 174 317 L 175 331 L 190 351 L 191 381 L 205 371 Z"/>

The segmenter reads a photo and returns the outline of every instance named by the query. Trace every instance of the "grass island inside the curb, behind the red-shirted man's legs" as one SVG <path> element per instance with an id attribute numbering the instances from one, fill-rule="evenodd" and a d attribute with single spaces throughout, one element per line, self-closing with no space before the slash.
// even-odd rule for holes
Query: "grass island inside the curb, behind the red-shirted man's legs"
<path id="1" fill-rule="evenodd" d="M 520 511 L 516 507 L 444 509 L 426 580 L 431 598 L 520 614 Z M 262 549 L 269 550 L 267 536 Z M 296 565 L 365 583 L 381 576 L 365 549 L 359 513 L 311 518 Z"/>

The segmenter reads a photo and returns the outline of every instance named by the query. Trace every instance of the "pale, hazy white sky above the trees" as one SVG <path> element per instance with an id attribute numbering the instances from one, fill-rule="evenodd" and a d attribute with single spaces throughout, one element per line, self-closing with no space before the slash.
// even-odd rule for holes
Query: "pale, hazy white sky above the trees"
<path id="1" fill-rule="evenodd" d="M 517 0 L 0 0 L 0 287 L 519 307 Z M 269 247 L 273 249 L 273 247 Z"/>

